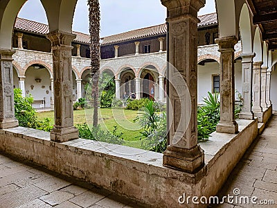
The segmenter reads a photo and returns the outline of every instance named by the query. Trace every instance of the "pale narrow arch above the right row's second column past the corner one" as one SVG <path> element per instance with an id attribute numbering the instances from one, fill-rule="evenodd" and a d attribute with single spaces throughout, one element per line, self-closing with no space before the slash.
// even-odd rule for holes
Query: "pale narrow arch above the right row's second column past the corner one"
<path id="1" fill-rule="evenodd" d="M 240 12 L 240 36 L 242 40 L 243 53 L 252 53 L 252 34 L 251 34 L 251 19 L 249 8 L 246 3 L 242 6 Z"/>

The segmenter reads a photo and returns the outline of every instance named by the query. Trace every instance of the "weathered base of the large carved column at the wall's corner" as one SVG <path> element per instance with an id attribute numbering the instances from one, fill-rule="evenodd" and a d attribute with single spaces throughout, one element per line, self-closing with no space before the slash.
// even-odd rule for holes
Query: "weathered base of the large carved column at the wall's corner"
<path id="1" fill-rule="evenodd" d="M 199 145 L 190 150 L 168 146 L 163 153 L 163 166 L 196 173 L 204 166 L 204 150 Z"/>

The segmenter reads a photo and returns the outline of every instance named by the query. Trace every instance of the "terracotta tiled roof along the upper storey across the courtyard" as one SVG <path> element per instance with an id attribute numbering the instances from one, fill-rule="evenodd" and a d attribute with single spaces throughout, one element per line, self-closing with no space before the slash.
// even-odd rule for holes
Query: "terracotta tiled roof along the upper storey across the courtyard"
<path id="1" fill-rule="evenodd" d="M 200 23 L 198 27 L 205 27 L 217 24 L 217 14 L 211 13 L 208 15 L 202 15 L 198 17 L 200 19 Z M 46 34 L 49 31 L 48 25 L 42 24 L 36 21 L 31 21 L 28 19 L 22 19 L 17 17 L 17 21 L 15 21 L 15 28 L 18 30 L 31 32 L 31 33 L 39 33 Z M 73 34 L 76 35 L 75 42 L 82 42 L 85 44 L 89 44 L 90 37 L 87 34 L 79 33 L 73 31 Z M 154 35 L 164 35 L 166 34 L 166 24 L 160 24 L 157 26 L 150 26 L 148 28 L 141 28 L 134 31 L 128 31 L 125 33 L 120 33 L 117 35 L 111 35 L 107 37 L 102 37 L 102 45 L 107 44 L 115 44 L 117 42 L 123 42 L 127 40 L 135 40 L 143 37 L 150 37 Z"/>

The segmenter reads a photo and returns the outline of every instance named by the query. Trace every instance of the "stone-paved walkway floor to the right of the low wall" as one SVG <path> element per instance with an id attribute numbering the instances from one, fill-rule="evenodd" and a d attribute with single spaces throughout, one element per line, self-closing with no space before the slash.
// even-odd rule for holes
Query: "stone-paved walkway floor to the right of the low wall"
<path id="1" fill-rule="evenodd" d="M 269 121 L 260 135 L 234 168 L 220 196 L 235 196 L 233 190 L 240 189 L 240 196 L 257 197 L 259 200 L 274 200 L 274 205 L 244 205 L 226 203 L 217 207 L 277 207 L 277 115 Z M 238 198 L 239 199 L 239 198 Z"/>

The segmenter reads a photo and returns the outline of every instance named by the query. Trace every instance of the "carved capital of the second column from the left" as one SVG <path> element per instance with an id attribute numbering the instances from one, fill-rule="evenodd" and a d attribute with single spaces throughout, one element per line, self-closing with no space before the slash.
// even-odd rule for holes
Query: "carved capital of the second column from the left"
<path id="1" fill-rule="evenodd" d="M 76 35 L 62 31 L 53 31 L 46 34 L 46 37 L 51 41 L 52 46 L 71 46 L 71 42 L 76 38 Z"/>

